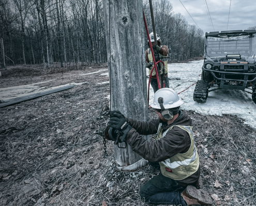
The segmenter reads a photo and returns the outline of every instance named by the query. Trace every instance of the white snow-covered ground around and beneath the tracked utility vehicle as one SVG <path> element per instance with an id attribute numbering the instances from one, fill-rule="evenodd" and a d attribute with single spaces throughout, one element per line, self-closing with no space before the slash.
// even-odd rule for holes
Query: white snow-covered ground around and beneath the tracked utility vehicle
<path id="1" fill-rule="evenodd" d="M 168 77 L 170 88 L 177 93 L 185 90 L 194 82 L 201 79 L 203 60 L 192 61 L 189 63 L 168 64 Z M 148 83 L 148 80 L 147 80 Z M 182 109 L 193 110 L 203 115 L 237 115 L 245 119 L 245 124 L 256 128 L 256 104 L 252 101 L 251 95 L 240 90 L 220 89 L 209 92 L 205 103 L 193 101 L 193 92 L 195 84 L 188 90 L 179 94 L 183 99 Z M 149 88 L 149 105 L 153 104 L 154 91 L 150 85 Z"/>

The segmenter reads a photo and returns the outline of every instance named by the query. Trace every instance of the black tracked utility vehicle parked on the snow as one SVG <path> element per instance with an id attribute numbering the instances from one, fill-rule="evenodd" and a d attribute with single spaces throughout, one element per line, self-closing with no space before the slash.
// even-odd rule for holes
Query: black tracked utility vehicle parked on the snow
<path id="1" fill-rule="evenodd" d="M 256 30 L 206 32 L 202 77 L 193 100 L 206 102 L 210 91 L 233 89 L 250 93 L 256 103 L 255 54 Z"/>

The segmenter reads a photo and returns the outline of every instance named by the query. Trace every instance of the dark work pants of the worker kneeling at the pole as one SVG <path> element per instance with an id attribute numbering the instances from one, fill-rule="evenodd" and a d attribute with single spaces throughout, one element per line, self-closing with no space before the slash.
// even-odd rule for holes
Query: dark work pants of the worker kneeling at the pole
<path id="1" fill-rule="evenodd" d="M 154 164 L 154 163 L 153 163 Z M 158 165 L 152 166 L 159 166 Z M 174 204 L 176 206 L 186 206 L 186 202 L 180 195 L 186 186 L 178 184 L 176 180 L 164 177 L 162 174 L 157 175 L 146 182 L 140 190 L 140 196 L 145 202 L 152 204 Z"/>

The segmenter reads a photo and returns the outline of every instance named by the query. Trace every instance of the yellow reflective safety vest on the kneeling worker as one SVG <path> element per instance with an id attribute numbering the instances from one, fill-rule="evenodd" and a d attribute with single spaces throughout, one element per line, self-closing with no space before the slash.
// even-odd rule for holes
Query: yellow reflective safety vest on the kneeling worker
<path id="1" fill-rule="evenodd" d="M 157 131 L 157 140 L 161 139 L 170 131 L 174 126 L 170 127 L 162 134 L 162 123 L 159 124 Z M 169 177 L 174 180 L 183 180 L 192 174 L 194 174 L 199 168 L 199 156 L 197 148 L 194 145 L 193 131 L 190 126 L 179 126 L 180 129 L 189 133 L 191 145 L 186 153 L 177 153 L 173 157 L 159 162 L 161 167 L 161 173 L 165 177 Z"/>

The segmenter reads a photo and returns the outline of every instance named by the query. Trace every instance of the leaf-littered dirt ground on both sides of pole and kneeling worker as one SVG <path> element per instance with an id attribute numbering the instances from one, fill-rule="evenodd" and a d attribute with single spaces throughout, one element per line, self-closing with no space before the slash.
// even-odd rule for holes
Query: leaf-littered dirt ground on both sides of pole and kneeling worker
<path id="1" fill-rule="evenodd" d="M 109 156 L 102 156 L 96 132 L 107 122 L 100 111 L 110 89 L 97 83 L 108 76 L 79 74 L 103 69 L 106 64 L 2 71 L 0 88 L 51 79 L 39 85 L 87 83 L 0 109 L 0 205 L 148 205 L 140 199 L 140 187 L 160 171 L 150 166 L 117 171 L 110 142 Z M 193 119 L 204 188 L 215 205 L 256 205 L 255 129 L 237 116 L 185 112 Z M 156 118 L 153 109 L 149 116 Z"/>

